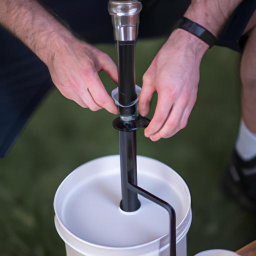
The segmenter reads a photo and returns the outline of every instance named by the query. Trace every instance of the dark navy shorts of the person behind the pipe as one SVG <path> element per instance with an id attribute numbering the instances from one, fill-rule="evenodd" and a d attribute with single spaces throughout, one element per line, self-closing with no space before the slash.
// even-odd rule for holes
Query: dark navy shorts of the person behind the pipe
<path id="1" fill-rule="evenodd" d="M 43 0 L 43 4 L 89 43 L 112 43 L 108 0 Z M 189 0 L 142 0 L 138 38 L 168 36 Z M 216 44 L 241 51 L 241 37 L 256 0 L 243 0 Z M 22 42 L 0 27 L 0 157 L 6 155 L 30 115 L 53 87 L 45 64 Z M 38 134 L 39 136 L 40 134 Z"/>

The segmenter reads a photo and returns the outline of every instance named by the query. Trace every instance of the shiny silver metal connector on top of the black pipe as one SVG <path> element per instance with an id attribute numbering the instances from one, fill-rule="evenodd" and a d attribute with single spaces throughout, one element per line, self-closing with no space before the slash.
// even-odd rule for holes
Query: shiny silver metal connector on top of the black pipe
<path id="1" fill-rule="evenodd" d="M 141 9 L 142 4 L 138 0 L 109 0 L 108 12 L 111 15 L 116 41 L 136 40 Z"/>

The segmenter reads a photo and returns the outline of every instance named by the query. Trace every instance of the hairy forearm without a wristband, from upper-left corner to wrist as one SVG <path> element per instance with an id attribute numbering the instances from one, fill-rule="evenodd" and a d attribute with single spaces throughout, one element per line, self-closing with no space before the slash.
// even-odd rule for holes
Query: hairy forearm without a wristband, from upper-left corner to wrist
<path id="1" fill-rule="evenodd" d="M 36 0 L 0 0 L 0 24 L 27 45 L 44 63 L 53 42 L 71 33 Z"/>

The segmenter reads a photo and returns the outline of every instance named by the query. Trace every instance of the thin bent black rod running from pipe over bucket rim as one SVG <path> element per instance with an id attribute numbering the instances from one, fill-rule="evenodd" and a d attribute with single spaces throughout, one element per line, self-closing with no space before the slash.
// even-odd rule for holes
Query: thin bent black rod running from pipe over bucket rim
<path id="1" fill-rule="evenodd" d="M 170 235 L 170 256 L 176 256 L 176 214 L 173 207 L 167 203 L 166 201 L 160 199 L 159 197 L 149 193 L 145 189 L 128 182 L 127 188 L 131 191 L 140 194 L 148 200 L 151 200 L 154 203 L 157 203 L 165 210 L 168 211 L 169 214 L 169 235 Z"/>

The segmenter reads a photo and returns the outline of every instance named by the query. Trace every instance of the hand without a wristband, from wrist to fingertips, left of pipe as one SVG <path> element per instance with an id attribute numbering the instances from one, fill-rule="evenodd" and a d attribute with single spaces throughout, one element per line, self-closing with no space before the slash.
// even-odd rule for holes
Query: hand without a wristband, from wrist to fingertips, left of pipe
<path id="1" fill-rule="evenodd" d="M 104 70 L 117 83 L 116 65 L 106 53 L 73 36 L 55 39 L 50 52 L 46 65 L 53 83 L 66 98 L 92 111 L 105 108 L 117 114 L 98 76 L 98 71 Z"/>

